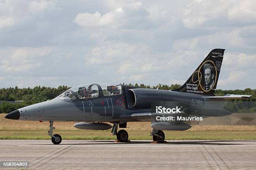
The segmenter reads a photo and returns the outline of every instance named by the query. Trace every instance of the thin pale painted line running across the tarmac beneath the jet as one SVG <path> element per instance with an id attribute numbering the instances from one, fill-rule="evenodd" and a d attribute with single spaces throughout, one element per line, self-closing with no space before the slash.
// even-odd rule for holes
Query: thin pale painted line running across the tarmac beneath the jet
<path id="1" fill-rule="evenodd" d="M 199 145 L 199 146 L 189 146 L 189 145 L 168 145 L 168 146 L 137 146 L 137 145 L 132 145 L 132 146 L 128 146 L 128 145 L 19 145 L 19 146 L 54 146 L 54 147 L 66 147 L 66 146 L 70 146 L 70 147 L 255 147 L 256 145 Z"/>

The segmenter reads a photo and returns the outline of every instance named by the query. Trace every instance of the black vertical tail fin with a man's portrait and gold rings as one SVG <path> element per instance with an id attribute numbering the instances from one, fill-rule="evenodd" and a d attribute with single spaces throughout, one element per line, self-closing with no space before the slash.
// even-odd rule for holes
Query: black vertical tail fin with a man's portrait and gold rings
<path id="1" fill-rule="evenodd" d="M 173 91 L 214 95 L 224 51 L 224 49 L 212 50 L 184 85 Z"/>

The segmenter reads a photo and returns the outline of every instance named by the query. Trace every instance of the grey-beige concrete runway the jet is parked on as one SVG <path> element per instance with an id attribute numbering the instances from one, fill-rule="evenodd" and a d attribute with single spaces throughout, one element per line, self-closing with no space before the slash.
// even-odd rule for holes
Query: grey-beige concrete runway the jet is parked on
<path id="1" fill-rule="evenodd" d="M 0 161 L 28 169 L 256 169 L 256 140 L 0 140 Z M 3 169 L 3 168 L 0 168 Z M 13 168 L 6 168 L 13 169 Z M 20 169 L 20 168 L 18 168 Z"/>

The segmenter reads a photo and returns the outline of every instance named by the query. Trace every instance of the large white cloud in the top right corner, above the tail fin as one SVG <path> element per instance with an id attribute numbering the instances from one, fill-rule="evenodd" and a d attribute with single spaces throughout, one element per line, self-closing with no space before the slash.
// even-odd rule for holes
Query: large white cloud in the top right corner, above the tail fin
<path id="1" fill-rule="evenodd" d="M 187 5 L 183 23 L 187 28 L 255 24 L 256 5 L 253 0 L 197 0 Z"/>

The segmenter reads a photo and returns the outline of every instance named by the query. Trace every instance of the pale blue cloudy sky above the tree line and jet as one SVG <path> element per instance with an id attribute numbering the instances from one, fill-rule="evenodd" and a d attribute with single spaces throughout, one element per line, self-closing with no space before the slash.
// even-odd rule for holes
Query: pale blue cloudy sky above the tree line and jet
<path id="1" fill-rule="evenodd" d="M 255 1 L 0 0 L 0 87 L 183 84 L 214 48 L 256 88 Z"/>

